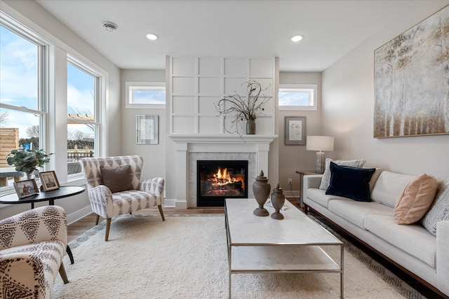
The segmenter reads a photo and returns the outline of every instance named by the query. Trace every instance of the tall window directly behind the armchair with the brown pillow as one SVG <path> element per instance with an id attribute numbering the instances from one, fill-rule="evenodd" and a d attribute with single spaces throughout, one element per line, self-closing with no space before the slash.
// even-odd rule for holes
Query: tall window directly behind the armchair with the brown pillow
<path id="1" fill-rule="evenodd" d="M 100 76 L 67 57 L 67 174 L 81 173 L 80 158 L 98 154 Z"/>

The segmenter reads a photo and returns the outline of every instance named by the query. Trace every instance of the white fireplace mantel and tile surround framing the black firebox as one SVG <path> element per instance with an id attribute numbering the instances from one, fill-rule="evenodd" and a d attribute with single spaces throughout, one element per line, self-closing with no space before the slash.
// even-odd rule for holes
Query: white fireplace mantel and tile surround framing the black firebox
<path id="1" fill-rule="evenodd" d="M 196 161 L 248 160 L 248 197 L 260 170 L 268 176 L 269 144 L 276 135 L 170 134 L 175 143 L 177 209 L 196 207 Z"/>

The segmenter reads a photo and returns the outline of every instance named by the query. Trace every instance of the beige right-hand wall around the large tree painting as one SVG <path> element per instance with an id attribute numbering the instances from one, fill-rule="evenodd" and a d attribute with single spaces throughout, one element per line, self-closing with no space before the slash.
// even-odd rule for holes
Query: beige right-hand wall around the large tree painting
<path id="1" fill-rule="evenodd" d="M 449 177 L 449 135 L 373 138 L 374 50 L 449 1 L 427 1 L 371 36 L 323 72 L 323 133 L 335 136 L 335 158 L 364 158 L 368 167 Z"/>

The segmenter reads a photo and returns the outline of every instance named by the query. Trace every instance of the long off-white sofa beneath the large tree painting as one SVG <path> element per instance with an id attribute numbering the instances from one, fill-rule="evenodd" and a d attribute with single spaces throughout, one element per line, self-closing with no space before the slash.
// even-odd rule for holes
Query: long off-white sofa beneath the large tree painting
<path id="1" fill-rule="evenodd" d="M 449 296 L 449 221 L 436 223 L 436 236 L 422 223 L 398 225 L 394 207 L 415 176 L 382 171 L 370 181 L 370 202 L 326 195 L 322 175 L 304 176 L 304 210 L 314 210 L 368 244 L 434 291 Z M 438 195 L 449 195 L 449 180 L 438 179 Z M 444 192 L 443 192 L 444 191 Z M 441 294 L 441 295 L 443 295 Z"/>

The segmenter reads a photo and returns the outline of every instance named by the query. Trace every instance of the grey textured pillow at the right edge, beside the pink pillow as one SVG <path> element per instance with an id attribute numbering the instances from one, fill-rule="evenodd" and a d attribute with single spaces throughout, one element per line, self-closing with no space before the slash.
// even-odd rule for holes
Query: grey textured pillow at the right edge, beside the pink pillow
<path id="1" fill-rule="evenodd" d="M 434 204 L 422 218 L 422 225 L 432 235 L 436 235 L 436 223 L 443 220 L 449 220 L 449 179 L 439 184 Z"/>

